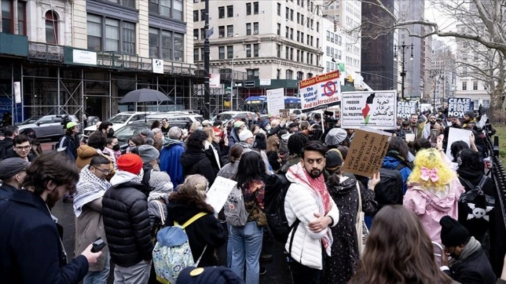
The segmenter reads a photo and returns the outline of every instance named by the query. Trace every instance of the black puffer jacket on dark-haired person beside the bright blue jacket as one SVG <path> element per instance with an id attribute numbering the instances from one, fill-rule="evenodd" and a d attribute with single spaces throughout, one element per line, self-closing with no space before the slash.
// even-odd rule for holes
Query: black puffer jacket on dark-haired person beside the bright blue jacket
<path id="1" fill-rule="evenodd" d="M 185 176 L 204 175 L 209 182 L 209 186 L 215 181 L 217 171 L 215 171 L 209 157 L 202 149 L 187 148 L 181 155 L 181 165 Z"/>

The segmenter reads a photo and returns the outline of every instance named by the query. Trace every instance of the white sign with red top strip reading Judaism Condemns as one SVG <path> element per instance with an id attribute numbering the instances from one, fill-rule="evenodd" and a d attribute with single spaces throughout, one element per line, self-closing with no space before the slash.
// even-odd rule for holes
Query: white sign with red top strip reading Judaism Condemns
<path id="1" fill-rule="evenodd" d="M 322 74 L 299 82 L 302 111 L 314 111 L 339 104 L 341 83 L 339 71 Z"/>

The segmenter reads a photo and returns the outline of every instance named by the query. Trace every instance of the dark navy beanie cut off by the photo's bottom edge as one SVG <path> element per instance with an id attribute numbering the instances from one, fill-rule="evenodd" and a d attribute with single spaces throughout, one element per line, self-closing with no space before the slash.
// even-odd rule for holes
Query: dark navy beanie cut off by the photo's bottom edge
<path id="1" fill-rule="evenodd" d="M 244 284 L 244 281 L 227 267 L 186 267 L 179 273 L 176 284 Z"/>

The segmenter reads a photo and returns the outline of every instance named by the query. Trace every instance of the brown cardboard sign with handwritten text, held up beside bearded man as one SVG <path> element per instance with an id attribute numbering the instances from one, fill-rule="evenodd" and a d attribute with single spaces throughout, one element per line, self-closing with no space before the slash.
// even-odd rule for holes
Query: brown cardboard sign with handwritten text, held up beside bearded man
<path id="1" fill-rule="evenodd" d="M 365 127 L 355 130 L 343 171 L 372 178 L 387 154 L 392 134 Z"/>

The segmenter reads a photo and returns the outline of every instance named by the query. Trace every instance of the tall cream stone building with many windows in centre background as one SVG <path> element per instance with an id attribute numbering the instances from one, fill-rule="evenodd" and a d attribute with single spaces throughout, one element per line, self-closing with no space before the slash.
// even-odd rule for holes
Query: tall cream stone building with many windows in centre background
<path id="1" fill-rule="evenodd" d="M 204 63 L 205 3 L 194 2 L 194 62 Z M 299 80 L 323 72 L 318 2 L 210 1 L 210 66 L 219 70 L 222 84 L 230 84 L 232 73 L 234 85 L 254 81 L 252 88 L 233 86 L 238 92 L 233 105 L 240 104 L 240 98 L 265 95 L 270 88 L 295 95 Z"/>

